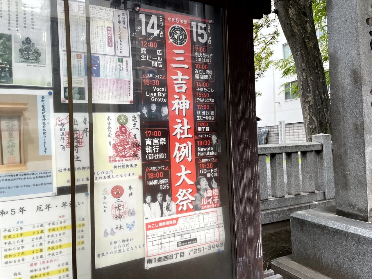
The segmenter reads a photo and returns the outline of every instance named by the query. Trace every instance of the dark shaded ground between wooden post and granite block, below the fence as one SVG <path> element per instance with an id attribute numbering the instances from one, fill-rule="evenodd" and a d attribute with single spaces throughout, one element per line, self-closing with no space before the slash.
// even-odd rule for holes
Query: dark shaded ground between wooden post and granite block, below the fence
<path id="1" fill-rule="evenodd" d="M 263 270 L 271 268 L 272 260 L 292 254 L 289 220 L 262 225 Z"/>

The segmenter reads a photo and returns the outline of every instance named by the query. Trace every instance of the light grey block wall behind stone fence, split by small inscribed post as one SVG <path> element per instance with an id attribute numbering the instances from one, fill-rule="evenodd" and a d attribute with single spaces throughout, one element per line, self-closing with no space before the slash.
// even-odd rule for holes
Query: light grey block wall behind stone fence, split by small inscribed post
<path id="1" fill-rule="evenodd" d="M 269 144 L 279 144 L 278 125 L 258 127 L 259 134 L 263 128 L 269 129 Z M 304 122 L 285 124 L 285 138 L 286 143 L 306 142 Z"/>

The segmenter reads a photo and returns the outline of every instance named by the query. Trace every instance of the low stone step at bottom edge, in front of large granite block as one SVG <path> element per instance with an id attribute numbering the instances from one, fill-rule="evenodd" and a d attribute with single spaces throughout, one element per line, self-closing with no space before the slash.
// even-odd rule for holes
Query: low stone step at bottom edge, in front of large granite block
<path id="1" fill-rule="evenodd" d="M 283 279 L 331 279 L 315 270 L 305 267 L 293 260 L 293 256 L 284 256 L 271 262 L 275 273 L 280 273 Z"/>

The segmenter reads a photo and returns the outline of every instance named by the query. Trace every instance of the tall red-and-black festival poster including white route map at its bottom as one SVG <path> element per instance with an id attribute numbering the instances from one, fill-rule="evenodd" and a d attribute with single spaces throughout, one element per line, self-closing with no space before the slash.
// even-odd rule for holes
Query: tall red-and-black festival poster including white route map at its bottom
<path id="1" fill-rule="evenodd" d="M 145 9 L 135 14 L 135 24 L 143 73 L 145 268 L 151 268 L 224 250 L 224 65 L 217 59 L 223 57 L 222 27 L 211 19 Z"/>

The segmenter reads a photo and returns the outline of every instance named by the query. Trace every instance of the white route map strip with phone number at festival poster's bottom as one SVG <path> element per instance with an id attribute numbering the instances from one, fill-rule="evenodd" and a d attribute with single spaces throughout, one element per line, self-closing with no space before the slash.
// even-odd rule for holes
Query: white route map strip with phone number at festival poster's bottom
<path id="1" fill-rule="evenodd" d="M 145 268 L 224 250 L 222 208 L 146 220 Z"/>

